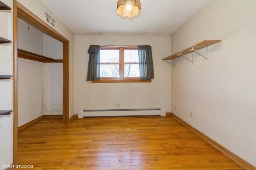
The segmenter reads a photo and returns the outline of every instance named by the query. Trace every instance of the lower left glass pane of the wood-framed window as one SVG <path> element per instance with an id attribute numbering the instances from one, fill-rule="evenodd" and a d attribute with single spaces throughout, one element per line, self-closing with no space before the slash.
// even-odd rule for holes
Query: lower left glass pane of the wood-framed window
<path id="1" fill-rule="evenodd" d="M 118 64 L 101 64 L 100 77 L 119 77 Z"/>

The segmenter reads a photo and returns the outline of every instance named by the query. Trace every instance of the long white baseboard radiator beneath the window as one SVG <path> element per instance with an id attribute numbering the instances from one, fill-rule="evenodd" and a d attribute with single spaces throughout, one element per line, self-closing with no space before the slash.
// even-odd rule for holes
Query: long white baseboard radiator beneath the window
<path id="1" fill-rule="evenodd" d="M 165 116 L 165 108 L 78 110 L 78 118 L 118 116 Z"/>

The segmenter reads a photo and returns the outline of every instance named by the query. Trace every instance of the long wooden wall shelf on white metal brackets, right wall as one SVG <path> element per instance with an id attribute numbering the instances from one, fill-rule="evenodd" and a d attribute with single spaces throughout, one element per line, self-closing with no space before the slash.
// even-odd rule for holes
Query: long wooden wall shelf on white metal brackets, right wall
<path id="1" fill-rule="evenodd" d="M 188 53 L 192 53 L 193 52 L 193 51 L 191 51 L 192 47 L 195 50 L 199 50 L 199 49 L 202 49 L 204 47 L 208 47 L 208 46 L 213 45 L 213 44 L 218 43 L 218 42 L 221 42 L 221 40 L 203 40 L 203 41 L 201 41 L 199 43 L 196 43 L 196 44 L 194 44 L 194 45 L 192 45 L 192 46 L 190 46 L 186 49 L 183 49 L 182 51 L 179 51 L 178 53 L 174 53 L 174 54 L 172 54 L 172 55 L 170 55 L 170 56 L 168 56 L 168 57 L 166 57 L 162 60 L 172 60 L 172 59 L 178 58 L 178 57 L 180 57 L 180 53 L 182 53 L 183 55 L 188 54 Z"/>

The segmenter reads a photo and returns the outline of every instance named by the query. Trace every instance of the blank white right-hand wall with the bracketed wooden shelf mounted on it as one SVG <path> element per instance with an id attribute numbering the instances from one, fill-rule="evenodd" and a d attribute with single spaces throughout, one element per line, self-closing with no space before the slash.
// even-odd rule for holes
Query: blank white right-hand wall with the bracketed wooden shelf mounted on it
<path id="1" fill-rule="evenodd" d="M 201 40 L 222 40 L 208 48 L 208 63 L 200 56 L 194 65 L 184 58 L 176 59 L 176 68 L 172 67 L 172 113 L 253 166 L 255 7 L 255 0 L 213 0 L 172 35 L 173 52 Z"/>

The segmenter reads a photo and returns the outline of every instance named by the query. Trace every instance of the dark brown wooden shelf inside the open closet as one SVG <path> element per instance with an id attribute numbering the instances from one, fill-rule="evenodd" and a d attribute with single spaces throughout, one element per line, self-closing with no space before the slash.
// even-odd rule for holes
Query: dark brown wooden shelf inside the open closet
<path id="1" fill-rule="evenodd" d="M 24 59 L 30 59 L 34 61 L 39 61 L 42 63 L 62 63 L 62 59 L 53 59 L 50 57 L 46 57 L 44 55 L 32 53 L 30 51 L 26 51 L 24 49 L 19 49 L 18 48 L 18 57 L 24 58 Z"/>

